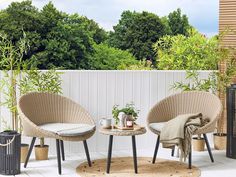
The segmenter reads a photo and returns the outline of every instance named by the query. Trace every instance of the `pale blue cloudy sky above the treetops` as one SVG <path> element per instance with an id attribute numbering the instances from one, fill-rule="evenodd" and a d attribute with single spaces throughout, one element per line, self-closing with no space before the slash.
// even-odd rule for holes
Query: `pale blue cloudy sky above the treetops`
<path id="1" fill-rule="evenodd" d="M 21 1 L 21 0 L 15 0 Z M 33 0 L 41 9 L 50 0 Z M 78 13 L 95 20 L 105 30 L 112 30 L 124 10 L 149 11 L 159 16 L 181 8 L 189 22 L 201 33 L 213 36 L 218 33 L 219 0 L 51 0 L 60 11 Z M 12 0 L 0 0 L 0 9 Z"/>

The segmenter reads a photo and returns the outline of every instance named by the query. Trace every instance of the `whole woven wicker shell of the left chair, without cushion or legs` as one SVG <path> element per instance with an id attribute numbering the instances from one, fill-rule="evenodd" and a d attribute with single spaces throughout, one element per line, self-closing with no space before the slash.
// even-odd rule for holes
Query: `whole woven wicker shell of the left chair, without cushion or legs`
<path id="1" fill-rule="evenodd" d="M 32 137 L 56 138 L 66 141 L 83 141 L 95 131 L 83 136 L 64 137 L 43 130 L 38 125 L 46 123 L 84 123 L 95 125 L 90 114 L 72 100 L 50 93 L 29 93 L 18 102 L 18 111 L 23 125 L 23 134 Z"/>

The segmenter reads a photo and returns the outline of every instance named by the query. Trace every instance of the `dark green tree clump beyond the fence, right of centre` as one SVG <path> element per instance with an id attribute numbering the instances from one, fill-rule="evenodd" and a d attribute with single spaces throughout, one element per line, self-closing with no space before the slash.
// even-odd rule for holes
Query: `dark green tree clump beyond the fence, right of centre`
<path id="1" fill-rule="evenodd" d="M 181 10 L 159 18 L 149 12 L 124 11 L 119 23 L 110 33 L 109 44 L 122 50 L 129 50 L 139 59 L 153 59 L 153 44 L 164 35 L 187 35 L 190 28 L 188 18 Z"/>

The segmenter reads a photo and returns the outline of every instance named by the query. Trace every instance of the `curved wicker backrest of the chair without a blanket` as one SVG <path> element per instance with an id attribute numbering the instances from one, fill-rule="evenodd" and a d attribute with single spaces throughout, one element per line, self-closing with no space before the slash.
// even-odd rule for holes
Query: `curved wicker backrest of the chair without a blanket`
<path id="1" fill-rule="evenodd" d="M 82 106 L 57 94 L 32 92 L 23 95 L 18 109 L 23 118 L 28 118 L 36 125 L 56 122 L 94 124 Z"/>

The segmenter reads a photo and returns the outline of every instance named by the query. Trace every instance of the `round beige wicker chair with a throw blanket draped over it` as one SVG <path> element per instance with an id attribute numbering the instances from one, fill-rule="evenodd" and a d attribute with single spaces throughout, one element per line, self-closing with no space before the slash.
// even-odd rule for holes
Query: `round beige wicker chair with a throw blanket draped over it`
<path id="1" fill-rule="evenodd" d="M 211 93 L 202 91 L 189 91 L 171 95 L 150 110 L 147 118 L 149 129 L 157 135 L 156 147 L 154 150 L 152 163 L 155 163 L 157 151 L 160 143 L 161 127 L 164 122 L 175 118 L 180 114 L 201 112 L 204 117 L 210 119 L 210 122 L 196 131 L 196 135 L 203 134 L 207 150 L 212 162 L 214 162 L 211 148 L 206 133 L 214 132 L 216 122 L 222 112 L 222 104 L 219 98 Z M 172 156 L 174 149 L 172 149 Z M 189 168 L 192 165 L 192 153 L 189 153 Z"/>

